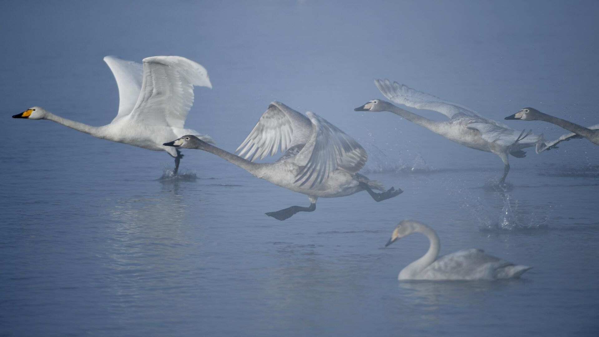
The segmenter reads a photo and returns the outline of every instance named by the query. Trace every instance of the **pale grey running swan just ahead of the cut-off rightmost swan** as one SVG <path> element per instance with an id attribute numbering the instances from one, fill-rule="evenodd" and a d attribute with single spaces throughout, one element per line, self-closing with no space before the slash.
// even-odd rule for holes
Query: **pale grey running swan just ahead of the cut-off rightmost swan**
<path id="1" fill-rule="evenodd" d="M 476 111 L 461 104 L 441 100 L 397 82 L 375 79 L 374 84 L 386 98 L 395 103 L 440 112 L 449 117 L 449 121 L 432 121 L 378 99 L 369 101 L 364 106 L 354 109 L 355 111 L 392 112 L 468 148 L 493 152 L 505 164 L 500 183 L 505 182 L 507 173 L 510 171 L 507 155 L 517 158 L 526 157 L 526 152 L 522 149 L 536 145 L 539 140 L 539 136 L 530 134 L 531 131 L 524 135 L 524 131 L 521 133 L 503 123 L 480 116 Z"/>

